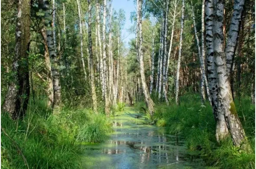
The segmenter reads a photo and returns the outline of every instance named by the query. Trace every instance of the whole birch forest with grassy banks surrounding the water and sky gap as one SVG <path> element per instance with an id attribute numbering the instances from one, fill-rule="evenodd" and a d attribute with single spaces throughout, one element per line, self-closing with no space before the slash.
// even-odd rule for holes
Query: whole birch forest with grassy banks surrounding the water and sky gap
<path id="1" fill-rule="evenodd" d="M 207 166 L 255 168 L 255 1 L 134 0 L 129 47 L 111 3 L 1 1 L 1 166 L 81 167 L 130 105 Z"/>

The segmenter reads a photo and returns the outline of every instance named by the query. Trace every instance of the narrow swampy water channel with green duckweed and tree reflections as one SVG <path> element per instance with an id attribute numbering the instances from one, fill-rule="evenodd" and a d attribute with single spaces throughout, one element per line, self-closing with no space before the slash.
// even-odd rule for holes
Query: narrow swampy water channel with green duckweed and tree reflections
<path id="1" fill-rule="evenodd" d="M 148 125 L 143 113 L 126 107 L 112 118 L 114 132 L 106 143 L 87 146 L 84 163 L 89 169 L 198 169 L 202 159 L 186 150 L 184 139 Z"/>

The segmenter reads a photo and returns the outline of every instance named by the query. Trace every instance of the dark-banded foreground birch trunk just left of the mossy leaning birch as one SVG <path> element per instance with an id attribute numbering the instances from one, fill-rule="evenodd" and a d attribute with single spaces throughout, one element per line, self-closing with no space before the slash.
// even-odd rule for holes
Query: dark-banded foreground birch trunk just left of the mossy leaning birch
<path id="1" fill-rule="evenodd" d="M 211 95 L 211 105 L 213 108 L 213 114 L 216 121 L 216 139 L 218 142 L 224 140 L 228 135 L 228 128 L 224 118 L 224 113 L 221 110 L 220 102 L 217 98 L 217 73 L 214 59 L 214 34 L 213 34 L 213 18 L 214 5 L 212 0 L 206 0 L 206 12 L 205 12 L 205 25 L 206 25 L 206 48 L 207 48 L 207 71 L 208 82 Z"/>

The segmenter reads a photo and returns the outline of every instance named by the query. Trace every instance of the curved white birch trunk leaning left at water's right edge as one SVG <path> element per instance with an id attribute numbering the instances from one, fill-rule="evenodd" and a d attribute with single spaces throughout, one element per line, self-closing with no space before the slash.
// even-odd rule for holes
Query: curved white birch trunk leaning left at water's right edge
<path id="1" fill-rule="evenodd" d="M 142 51 L 142 0 L 137 0 L 137 19 L 139 20 L 139 64 L 140 64 L 140 77 L 142 82 L 143 93 L 149 108 L 149 114 L 152 116 L 154 113 L 154 102 L 152 101 L 148 86 L 146 85 L 145 71 L 144 71 L 144 61 L 143 61 L 143 51 Z"/>

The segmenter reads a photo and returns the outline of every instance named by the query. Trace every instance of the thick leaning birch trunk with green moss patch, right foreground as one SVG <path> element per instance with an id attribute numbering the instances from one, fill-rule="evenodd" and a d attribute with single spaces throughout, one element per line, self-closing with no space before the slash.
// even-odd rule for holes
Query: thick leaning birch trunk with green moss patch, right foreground
<path id="1" fill-rule="evenodd" d="M 238 3 L 239 2 L 235 2 L 234 6 L 238 5 Z M 214 9 L 214 58 L 217 71 L 218 100 L 220 100 L 221 109 L 224 112 L 225 121 L 228 125 L 234 145 L 241 147 L 243 150 L 251 151 L 250 144 L 246 139 L 245 132 L 233 102 L 230 80 L 228 76 L 229 74 L 224 52 L 224 34 L 222 29 L 224 19 L 224 2 L 214 1 Z"/>

